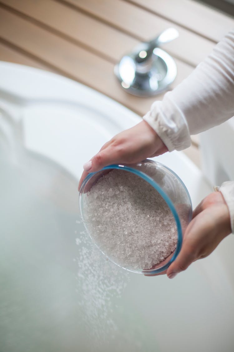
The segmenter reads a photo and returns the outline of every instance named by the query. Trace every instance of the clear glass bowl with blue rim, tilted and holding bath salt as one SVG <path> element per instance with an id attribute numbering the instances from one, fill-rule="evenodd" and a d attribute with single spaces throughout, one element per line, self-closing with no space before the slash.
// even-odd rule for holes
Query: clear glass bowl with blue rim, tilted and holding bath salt
<path id="1" fill-rule="evenodd" d="M 169 250 L 169 254 L 168 254 L 167 253 L 168 249 L 166 252 L 166 250 L 164 250 L 164 247 L 159 245 L 159 246 L 161 246 L 160 248 L 161 248 L 161 250 L 163 250 L 163 253 L 167 253 L 166 257 L 161 256 L 160 261 L 157 262 L 156 264 L 153 263 L 153 265 L 149 269 L 146 268 L 147 265 L 145 265 L 145 267 L 143 267 L 143 268 L 142 267 L 136 268 L 135 266 L 133 267 L 132 264 L 131 265 L 130 264 L 123 265 L 121 260 L 119 260 L 118 257 L 113 256 L 113 254 L 110 254 L 110 252 L 108 252 L 108 250 L 106 249 L 106 245 L 103 245 L 101 243 L 102 241 L 100 240 L 100 238 L 101 239 L 105 238 L 105 231 L 103 231 L 103 238 L 102 238 L 102 233 L 101 233 L 101 237 L 99 237 L 98 239 L 96 237 L 96 233 L 98 233 L 99 228 L 101 228 L 102 224 L 104 224 L 106 221 L 104 219 L 104 216 L 103 216 L 103 219 L 101 218 L 101 216 L 105 213 L 105 211 L 103 213 L 103 209 L 105 209 L 105 207 L 106 207 L 106 209 L 109 211 L 110 208 L 108 208 L 108 203 L 107 204 L 105 203 L 105 200 L 107 200 L 107 196 L 106 196 L 107 194 L 106 193 L 104 195 L 102 194 L 102 198 L 100 196 L 100 199 L 102 199 L 102 202 L 99 203 L 100 207 L 97 207 L 95 210 L 97 212 L 97 213 L 95 213 L 96 214 L 95 219 L 99 219 L 100 223 L 99 223 L 99 225 L 96 225 L 96 224 L 93 225 L 92 220 L 90 220 L 92 218 L 92 215 L 90 214 L 91 212 L 89 211 L 92 208 L 93 203 L 90 203 L 90 200 L 91 199 L 96 200 L 96 198 L 99 197 L 99 194 L 101 194 L 102 192 L 100 191 L 100 186 L 99 186 L 99 188 L 98 188 L 99 191 L 97 193 L 95 191 L 93 191 L 92 196 L 91 196 L 91 192 L 92 192 L 91 189 L 95 185 L 101 184 L 100 181 L 103 182 L 104 178 L 105 179 L 107 177 L 110 178 L 112 175 L 114 175 L 113 172 L 112 172 L 112 174 L 110 174 L 110 172 L 112 170 L 118 170 L 118 171 L 114 171 L 114 173 L 115 173 L 115 175 L 116 174 L 120 175 L 122 177 L 122 179 L 123 179 L 123 176 L 124 176 L 124 178 L 126 178 L 126 180 L 127 179 L 129 180 L 130 176 L 133 177 L 134 180 L 136 178 L 138 179 L 138 177 L 140 177 L 141 180 L 138 180 L 140 182 L 140 184 L 142 185 L 142 182 L 143 182 L 143 185 L 145 183 L 147 183 L 146 186 L 150 188 L 151 194 L 153 194 L 153 196 L 155 197 L 156 200 L 160 200 L 160 202 L 163 202 L 162 203 L 163 207 L 166 207 L 163 209 L 167 210 L 167 214 L 169 214 L 173 220 L 174 227 L 173 226 L 171 227 L 171 230 L 174 232 L 173 236 L 174 236 L 174 241 L 175 241 L 173 250 Z M 122 174 L 123 172 L 125 172 L 125 174 Z M 109 174 L 109 176 L 108 176 L 108 174 Z M 114 177 L 116 177 L 115 175 L 114 175 Z M 135 175 L 135 176 L 133 176 L 133 175 Z M 131 179 L 131 177 L 130 177 L 130 179 Z M 122 190 L 121 189 L 122 186 L 121 185 L 119 185 L 119 186 L 120 186 L 120 190 Z M 152 189 L 152 187 L 153 187 L 153 189 Z M 93 190 L 95 190 L 95 189 L 97 189 L 97 188 L 93 188 Z M 140 189 L 140 191 L 142 191 L 142 190 L 144 191 L 144 188 Z M 111 196 L 114 193 L 112 191 L 112 189 L 109 189 L 108 192 L 109 192 L 108 195 L 111 195 Z M 132 192 L 132 191 L 130 191 L 130 192 Z M 117 191 L 117 193 L 119 193 L 119 191 Z M 93 195 L 94 195 L 94 198 L 92 198 Z M 142 195 L 142 192 L 141 192 L 141 195 Z M 147 197 L 147 195 L 146 195 L 146 197 Z M 142 198 L 145 198 L 145 197 L 144 196 L 141 197 L 141 200 L 142 200 Z M 115 203 L 115 200 L 116 199 L 113 199 L 113 203 L 112 203 L 113 205 Z M 126 199 L 126 202 L 128 202 L 128 199 Z M 142 203 L 144 203 L 143 200 L 142 200 Z M 161 203 L 158 203 L 158 204 L 161 204 Z M 140 210 L 139 211 L 137 210 L 139 213 L 139 218 L 140 218 L 142 213 L 145 214 L 145 210 L 143 209 L 143 207 L 144 207 L 143 205 L 141 207 L 141 204 L 139 203 L 139 201 L 138 201 L 138 205 L 140 205 L 140 207 L 139 207 Z M 133 205 L 133 207 L 134 207 L 134 209 L 136 208 L 135 205 Z M 131 165 L 127 165 L 127 164 L 109 165 L 98 172 L 93 172 L 93 173 L 88 174 L 86 176 L 85 180 L 83 181 L 81 188 L 80 188 L 79 208 L 80 208 L 81 218 L 83 220 L 83 223 L 85 225 L 87 233 L 94 240 L 95 244 L 102 251 L 102 253 L 108 259 L 110 259 L 112 262 L 121 266 L 123 269 L 133 271 L 133 272 L 136 272 L 139 274 L 144 274 L 144 275 L 155 275 L 155 274 L 158 274 L 162 271 L 165 271 L 168 268 L 168 266 L 175 260 L 175 258 L 178 256 L 180 249 L 181 249 L 183 233 L 184 233 L 187 225 L 189 224 L 189 222 L 192 220 L 192 202 L 191 202 L 191 199 L 190 199 L 190 196 L 189 196 L 189 193 L 188 193 L 188 190 L 187 190 L 185 184 L 181 181 L 180 177 L 178 175 L 176 175 L 175 172 L 173 172 L 167 166 L 165 166 L 159 162 L 155 162 L 153 160 L 150 160 L 150 159 L 146 159 L 140 163 L 135 163 L 135 164 L 131 164 Z M 102 209 L 102 213 L 100 213 L 100 209 Z M 154 212 L 154 209 L 155 208 L 153 208 L 153 212 Z M 160 207 L 159 207 L 159 209 L 160 209 Z M 155 211 L 156 211 L 156 209 L 155 209 Z M 160 212 L 162 213 L 161 210 L 158 210 L 158 211 L 159 211 L 159 213 Z M 146 210 L 146 213 L 147 213 L 147 210 Z M 149 215 L 147 215 L 147 216 L 149 216 Z M 155 222 L 155 221 L 157 221 L 155 219 L 159 219 L 159 217 L 153 218 L 153 216 L 151 216 L 150 219 L 153 218 L 153 220 L 152 220 L 152 221 L 154 221 L 153 224 L 156 224 L 157 226 L 162 226 L 160 224 L 167 224 L 167 226 L 170 226 L 171 223 L 164 222 L 162 216 L 163 216 L 163 214 L 161 215 L 159 223 Z M 115 222 L 115 224 L 117 224 L 118 231 L 119 231 L 119 229 L 121 229 L 121 224 L 123 222 L 123 220 L 121 220 L 122 218 L 115 219 L 113 216 L 113 217 L 109 217 L 108 219 L 109 220 L 106 221 L 106 222 L 108 222 L 108 226 L 109 225 L 112 226 L 111 224 L 112 223 L 114 224 L 114 222 Z M 117 220 L 117 222 L 116 222 L 116 220 Z M 125 221 L 126 221 L 126 219 L 125 219 Z M 134 231 L 132 231 L 132 232 L 135 235 L 135 233 L 138 233 L 137 219 L 134 222 L 134 226 L 135 226 Z M 152 228 L 153 228 L 153 226 L 152 226 Z M 155 226 L 155 228 L 156 228 L 156 226 Z M 157 228 L 159 229 L 160 227 L 157 227 Z M 112 233 L 112 231 L 113 231 L 113 227 L 112 227 L 111 232 L 109 232 L 109 233 Z M 176 232 L 177 232 L 177 236 L 176 236 Z M 121 229 L 120 232 L 118 232 L 118 235 L 121 234 L 121 240 L 123 242 L 122 247 L 121 247 L 122 252 L 125 251 L 124 241 L 127 239 L 126 237 L 124 237 L 125 233 L 127 236 L 127 231 L 122 232 L 122 229 Z M 113 232 L 113 235 L 111 235 L 111 236 L 112 236 L 111 238 L 114 238 L 114 240 L 116 241 L 115 245 L 119 246 L 119 243 L 118 243 L 119 239 L 117 238 L 117 234 L 115 234 Z M 142 240 L 142 238 L 140 240 Z M 153 239 L 153 241 L 154 241 L 154 239 Z M 104 241 L 104 243 L 105 243 L 105 241 Z M 157 243 L 159 243 L 159 242 L 157 242 Z M 168 245 L 168 242 L 165 241 L 165 243 Z M 135 243 L 133 243 L 133 244 L 135 245 Z M 150 242 L 149 242 L 149 245 L 150 245 Z M 128 245 L 126 244 L 126 247 L 127 246 Z M 153 245 L 152 245 L 152 247 L 153 247 Z M 159 247 L 155 246 L 153 248 L 156 248 L 156 251 L 158 251 Z M 166 248 L 166 245 L 165 245 L 165 248 Z M 151 247 L 149 247 L 149 249 L 151 250 Z M 137 251 L 138 250 L 136 250 L 136 252 Z M 141 252 L 141 253 L 143 253 L 143 252 Z M 127 254 L 129 254 L 129 253 L 127 253 Z M 154 254 L 151 254 L 151 256 L 153 256 L 153 255 Z M 148 258 L 148 254 L 146 254 L 145 258 Z M 132 260 L 132 258 L 130 258 L 130 259 Z M 147 259 L 144 259 L 144 260 L 147 260 Z M 153 260 L 153 259 L 149 259 L 149 263 L 151 263 L 151 260 Z M 159 258 L 157 260 L 159 260 Z M 151 265 L 151 264 L 149 264 L 149 265 Z"/>

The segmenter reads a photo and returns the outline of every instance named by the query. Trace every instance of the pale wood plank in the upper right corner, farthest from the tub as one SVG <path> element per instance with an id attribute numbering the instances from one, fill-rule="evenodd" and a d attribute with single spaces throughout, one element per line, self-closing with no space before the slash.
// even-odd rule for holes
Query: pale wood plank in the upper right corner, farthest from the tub
<path id="1" fill-rule="evenodd" d="M 126 0 L 219 42 L 234 27 L 234 18 L 194 0 Z"/>

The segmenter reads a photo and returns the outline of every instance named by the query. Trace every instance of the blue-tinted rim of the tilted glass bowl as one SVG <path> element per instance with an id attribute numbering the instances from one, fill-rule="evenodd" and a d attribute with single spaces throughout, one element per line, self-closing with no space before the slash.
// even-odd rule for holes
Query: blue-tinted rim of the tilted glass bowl
<path id="1" fill-rule="evenodd" d="M 147 162 L 152 162 L 152 163 L 155 163 L 155 161 L 151 160 L 151 159 L 146 159 L 145 161 Z M 142 161 L 143 162 L 143 161 Z M 186 193 L 187 193 L 187 196 L 188 196 L 188 199 L 190 201 L 190 205 L 191 205 L 191 208 L 192 208 L 192 201 L 191 201 L 191 198 L 190 198 L 190 195 L 188 193 L 188 190 L 185 186 L 185 184 L 183 183 L 183 181 L 181 180 L 181 178 L 176 175 L 176 173 L 171 170 L 170 168 L 168 168 L 166 165 L 164 164 L 161 164 L 159 162 L 156 162 L 157 165 L 160 165 L 160 166 L 163 166 L 164 168 L 166 168 L 168 171 L 172 172 L 172 174 L 181 182 L 181 184 L 183 185 Z M 175 252 L 172 256 L 172 258 L 169 260 L 168 263 L 166 263 L 165 265 L 163 266 L 160 266 L 159 268 L 157 269 L 152 269 L 152 270 L 142 270 L 142 271 L 135 271 L 135 270 L 130 270 L 130 269 L 127 269 L 127 268 L 123 268 L 121 266 L 122 269 L 125 269 L 125 270 L 128 270 L 128 271 L 132 271 L 132 272 L 136 272 L 137 274 L 144 274 L 144 275 L 155 275 L 155 274 L 159 274 L 160 272 L 166 270 L 171 264 L 172 262 L 174 262 L 175 258 L 178 256 L 180 250 L 181 250 L 181 246 L 182 246 L 182 228 L 181 228 L 181 223 L 180 223 L 180 219 L 179 219 L 179 215 L 178 213 L 176 212 L 176 209 L 171 201 L 171 199 L 168 197 L 168 195 L 163 191 L 163 189 L 158 185 L 158 183 L 156 183 L 153 178 L 151 178 L 150 176 L 146 175 L 144 172 L 138 170 L 138 169 L 135 169 L 133 167 L 130 167 L 130 166 L 126 166 L 126 165 L 121 165 L 121 164 L 113 164 L 113 165 L 108 165 L 108 166 L 105 166 L 104 168 L 102 168 L 101 170 L 99 171 L 96 171 L 96 172 L 91 172 L 89 173 L 86 178 L 83 180 L 82 184 L 81 184 L 81 187 L 80 187 L 80 192 L 79 192 L 79 208 L 80 208 L 80 214 L 81 214 L 81 218 L 83 220 L 83 224 L 85 225 L 85 228 L 86 228 L 86 231 L 87 233 L 89 234 L 89 231 L 86 227 L 86 224 L 85 224 L 85 221 L 83 219 L 83 214 L 82 214 L 82 208 L 81 208 L 81 194 L 82 194 L 82 190 L 83 188 L 86 186 L 86 183 L 94 176 L 96 175 L 97 173 L 101 172 L 101 171 L 104 171 L 104 170 L 110 170 L 110 169 L 117 169 L 117 170 L 124 170 L 124 171 L 128 171 L 128 172 L 132 172 L 133 174 L 141 177 L 143 180 L 147 181 L 149 184 L 151 184 L 152 187 L 154 187 L 154 189 L 156 189 L 156 191 L 158 191 L 158 193 L 162 196 L 162 198 L 166 201 L 169 209 L 171 210 L 173 216 L 174 216 L 174 219 L 175 219 L 175 222 L 176 222 L 176 226 L 177 226 L 177 233 L 178 233 L 178 241 L 177 241 L 177 245 L 176 245 L 176 249 L 175 249 Z M 92 239 L 92 236 L 89 234 L 89 237 L 91 237 Z M 98 245 L 96 245 L 98 247 Z M 98 247 L 99 250 L 101 250 L 99 247 Z M 102 252 L 102 250 L 101 250 Z M 102 252 L 103 253 L 103 252 Z M 103 253 L 107 258 L 109 258 L 106 253 Z M 109 258 L 111 260 L 111 262 L 113 262 L 114 264 L 120 266 L 118 263 L 115 263 L 111 258 Z"/>

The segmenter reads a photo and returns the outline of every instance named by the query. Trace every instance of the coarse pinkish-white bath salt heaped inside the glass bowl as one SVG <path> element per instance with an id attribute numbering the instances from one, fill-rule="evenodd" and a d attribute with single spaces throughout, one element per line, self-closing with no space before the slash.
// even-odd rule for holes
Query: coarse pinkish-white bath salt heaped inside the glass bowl
<path id="1" fill-rule="evenodd" d="M 129 270 L 162 262 L 177 244 L 174 216 L 161 195 L 123 170 L 102 176 L 83 202 L 84 222 L 99 249 Z"/>

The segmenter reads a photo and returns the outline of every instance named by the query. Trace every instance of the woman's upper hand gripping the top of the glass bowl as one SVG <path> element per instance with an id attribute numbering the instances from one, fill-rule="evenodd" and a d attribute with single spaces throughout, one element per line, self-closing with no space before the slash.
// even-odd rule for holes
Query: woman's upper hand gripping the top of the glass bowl
<path id="1" fill-rule="evenodd" d="M 84 167 L 78 190 L 88 172 L 101 170 L 104 166 L 118 163 L 133 164 L 168 151 L 158 134 L 146 121 L 120 132 L 103 145 Z"/>

